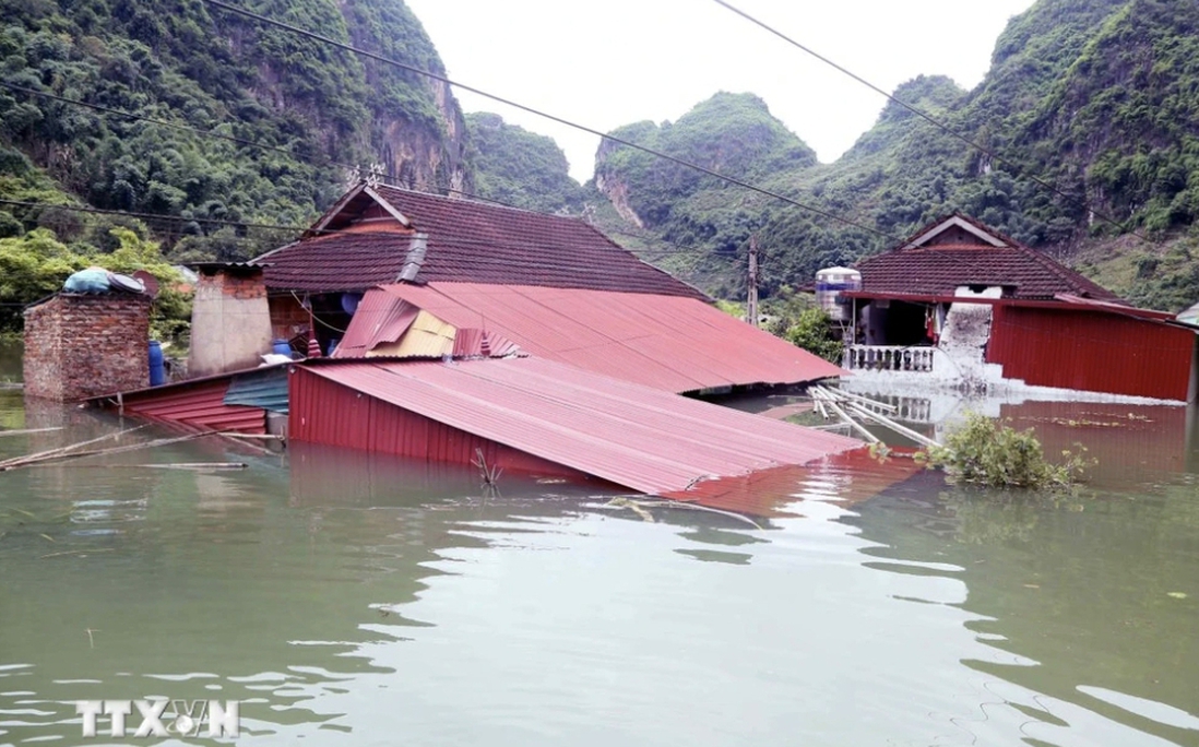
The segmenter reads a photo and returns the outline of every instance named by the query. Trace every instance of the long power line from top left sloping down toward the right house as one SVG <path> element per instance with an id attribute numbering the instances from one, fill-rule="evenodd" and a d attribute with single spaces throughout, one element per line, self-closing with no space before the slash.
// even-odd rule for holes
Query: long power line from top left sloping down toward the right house
<path id="1" fill-rule="evenodd" d="M 283 22 L 276 20 L 273 18 L 269 18 L 269 17 L 263 16 L 260 13 L 254 13 L 252 11 L 247 11 L 245 8 L 240 8 L 240 7 L 229 5 L 227 2 L 222 2 L 221 0 L 204 0 L 204 2 L 206 2 L 207 5 L 212 5 L 215 7 L 219 7 L 222 10 L 225 10 L 225 11 L 228 11 L 230 13 L 235 13 L 235 14 L 242 16 L 245 18 L 251 18 L 251 19 L 258 20 L 259 23 L 264 23 L 264 24 L 275 26 L 277 29 L 283 29 L 284 31 L 289 31 L 291 34 L 297 34 L 300 36 L 303 36 L 303 37 L 307 37 L 307 38 L 311 38 L 311 40 L 314 40 L 314 41 L 318 41 L 318 42 L 321 42 L 321 43 L 325 43 L 325 44 L 329 44 L 329 46 L 332 46 L 332 47 L 337 47 L 338 49 L 344 49 L 344 50 L 350 52 L 353 54 L 357 54 L 357 55 L 361 55 L 361 56 L 375 60 L 378 62 L 382 62 L 385 65 L 390 65 L 390 66 L 399 68 L 399 70 L 404 70 L 404 71 L 408 71 L 408 72 L 411 72 L 411 73 L 416 73 L 418 76 L 424 76 L 426 78 L 430 78 L 433 80 L 438 80 L 438 82 L 445 83 L 446 85 L 452 85 L 452 86 L 462 89 L 464 91 L 470 91 L 471 94 L 475 94 L 477 96 L 482 96 L 484 98 L 489 98 L 492 101 L 495 101 L 498 103 L 512 107 L 514 109 L 519 109 L 522 112 L 528 112 L 529 114 L 535 114 L 535 115 L 541 116 L 543 119 L 547 119 L 547 120 L 549 120 L 552 122 L 558 122 L 559 125 L 565 125 L 567 127 L 572 127 L 572 128 L 578 129 L 580 132 L 586 132 L 588 134 L 592 134 L 592 135 L 600 137 L 600 138 L 602 138 L 604 140 L 609 140 L 611 143 L 616 143 L 617 145 L 623 145 L 626 147 L 632 147 L 634 150 L 639 150 L 641 152 L 649 153 L 649 155 L 651 155 L 651 156 L 653 156 L 656 158 L 662 158 L 664 161 L 669 161 L 669 162 L 675 163 L 677 165 L 681 165 L 683 168 L 688 168 L 688 169 L 692 169 L 694 171 L 699 171 L 700 174 L 706 174 L 707 176 L 713 176 L 716 179 L 725 181 L 725 182 L 728 182 L 730 185 L 735 185 L 735 186 L 741 187 L 743 189 L 749 189 L 751 192 L 757 192 L 758 194 L 761 194 L 761 195 L 765 195 L 765 197 L 769 197 L 769 198 L 772 198 L 772 199 L 787 203 L 789 205 L 793 205 L 795 207 L 800 207 L 801 210 L 806 210 L 808 212 L 823 216 L 823 217 L 829 218 L 831 221 L 837 221 L 838 223 L 843 223 L 845 225 L 851 225 L 851 227 L 857 228 L 860 230 L 874 234 L 876 236 L 880 236 L 880 237 L 885 239 L 888 242 L 894 241 L 893 236 L 890 236 L 888 234 L 886 234 L 886 233 L 884 233 L 884 231 L 881 231 L 881 230 L 879 230 L 879 229 L 876 229 L 874 227 L 866 225 L 863 223 L 858 223 L 857 221 L 854 221 L 851 218 L 845 218 L 845 217 L 838 216 L 836 213 L 829 212 L 826 210 L 821 210 L 819 207 L 814 207 L 812 205 L 807 205 L 807 204 L 801 203 L 799 200 L 795 200 L 795 199 L 791 199 L 791 198 L 785 197 L 783 194 L 779 194 L 778 192 L 773 192 L 771 189 L 766 189 L 765 187 L 759 187 L 757 185 L 749 183 L 747 181 L 742 181 L 742 180 L 736 179 L 734 176 L 728 176 L 725 174 L 721 174 L 719 171 L 713 171 L 712 169 L 701 167 L 701 165 L 699 165 L 697 163 L 692 163 L 692 162 L 686 161 L 683 158 L 677 158 L 675 156 L 670 156 L 668 153 L 663 153 L 663 152 L 653 150 L 651 147 L 646 147 L 644 145 L 638 145 L 637 143 L 633 143 L 631 140 L 626 140 L 623 138 L 617 138 L 617 137 L 613 137 L 610 134 L 605 134 L 605 133 L 603 133 L 603 132 L 601 132 L 598 129 L 595 129 L 592 127 L 588 127 L 585 125 L 579 125 L 578 122 L 572 122 L 572 121 L 570 121 L 567 119 L 564 119 L 561 116 L 556 116 L 554 114 L 549 114 L 547 112 L 542 112 L 540 109 L 535 109 L 532 107 L 528 107 L 525 104 L 517 103 L 517 102 L 514 102 L 514 101 L 512 101 L 510 98 L 504 98 L 502 96 L 498 96 L 495 94 L 489 94 L 489 92 L 487 92 L 487 91 L 484 91 L 482 89 L 477 89 L 477 88 L 466 85 L 464 83 L 458 83 L 457 80 L 452 80 L 452 79 L 450 79 L 450 78 L 447 78 L 447 77 L 445 77 L 445 76 L 442 76 L 440 73 L 434 73 L 432 71 L 427 71 L 427 70 L 416 67 L 414 65 L 406 65 L 406 64 L 400 62 L 398 60 L 392 60 L 391 58 L 386 58 L 386 56 L 384 56 L 381 54 L 375 54 L 373 52 L 367 52 L 366 49 L 360 49 L 359 47 L 354 47 L 353 44 L 347 44 L 344 42 L 339 42 L 339 41 L 337 41 L 335 38 L 330 38 L 327 36 L 317 34 L 314 31 L 308 31 L 307 29 L 301 29 L 300 26 L 294 26 L 291 24 L 283 23 Z"/>

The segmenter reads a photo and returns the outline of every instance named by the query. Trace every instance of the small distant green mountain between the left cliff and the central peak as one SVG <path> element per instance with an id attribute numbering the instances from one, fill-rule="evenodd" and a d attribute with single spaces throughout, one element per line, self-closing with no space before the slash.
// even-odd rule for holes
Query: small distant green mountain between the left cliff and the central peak
<path id="1" fill-rule="evenodd" d="M 468 114 L 466 129 L 478 197 L 538 212 L 583 210 L 586 193 L 553 138 L 508 125 L 499 114 Z"/>

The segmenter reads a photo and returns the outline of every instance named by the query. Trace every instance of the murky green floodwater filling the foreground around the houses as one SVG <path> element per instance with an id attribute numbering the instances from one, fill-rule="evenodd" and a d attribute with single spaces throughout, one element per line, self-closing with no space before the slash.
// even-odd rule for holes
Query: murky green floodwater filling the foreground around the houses
<path id="1" fill-rule="evenodd" d="M 0 472 L 0 743 L 157 697 L 247 745 L 1199 745 L 1193 424 L 1096 408 L 1025 414 L 1096 436 L 1077 495 L 827 466 L 758 526 L 299 445 Z M 58 426 L 0 459 L 121 423 L 0 390 Z"/>

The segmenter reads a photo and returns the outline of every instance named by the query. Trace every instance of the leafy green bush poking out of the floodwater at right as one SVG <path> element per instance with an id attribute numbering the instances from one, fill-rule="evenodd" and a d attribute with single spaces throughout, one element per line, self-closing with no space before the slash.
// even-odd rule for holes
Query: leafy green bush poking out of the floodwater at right
<path id="1" fill-rule="evenodd" d="M 1081 448 L 1085 451 L 1085 448 Z M 1046 459 L 1032 429 L 1016 430 L 978 414 L 966 415 L 963 427 L 945 438 L 945 446 L 917 454 L 929 466 L 945 470 L 954 482 L 994 488 L 1061 490 L 1076 484 L 1087 462 L 1070 451 L 1064 462 Z"/>

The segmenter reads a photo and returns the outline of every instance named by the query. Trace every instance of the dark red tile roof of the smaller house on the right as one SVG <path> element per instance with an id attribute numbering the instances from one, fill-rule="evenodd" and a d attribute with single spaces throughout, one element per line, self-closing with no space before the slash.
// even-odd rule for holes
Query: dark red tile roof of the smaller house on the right
<path id="1" fill-rule="evenodd" d="M 1007 246 L 947 243 L 914 246 L 912 240 L 936 225 L 960 218 Z M 855 265 L 862 273 L 862 290 L 918 295 L 950 295 L 959 285 L 1011 285 L 1012 297 L 1053 300 L 1072 294 L 1101 301 L 1120 301 L 1110 290 L 1030 249 L 977 221 L 950 216 L 914 234 L 899 248 L 870 257 Z"/>

